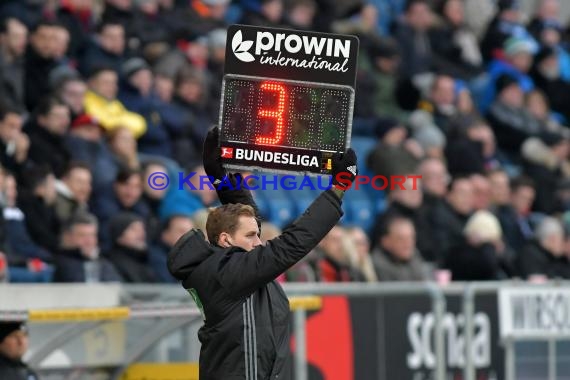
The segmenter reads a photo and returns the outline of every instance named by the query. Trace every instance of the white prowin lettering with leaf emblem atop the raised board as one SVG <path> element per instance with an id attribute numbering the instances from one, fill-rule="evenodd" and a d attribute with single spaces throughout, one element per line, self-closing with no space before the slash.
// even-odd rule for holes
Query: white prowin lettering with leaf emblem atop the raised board
<path id="1" fill-rule="evenodd" d="M 238 30 L 232 52 L 242 62 L 259 59 L 262 65 L 347 72 L 351 40 L 333 37 L 258 31 L 255 41 L 244 40 Z M 250 50 L 253 47 L 253 54 Z M 292 55 L 292 56 L 289 56 Z"/>

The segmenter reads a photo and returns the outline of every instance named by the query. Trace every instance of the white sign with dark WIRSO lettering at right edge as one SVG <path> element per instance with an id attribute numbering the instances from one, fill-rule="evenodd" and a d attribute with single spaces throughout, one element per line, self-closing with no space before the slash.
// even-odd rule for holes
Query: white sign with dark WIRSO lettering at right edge
<path id="1" fill-rule="evenodd" d="M 501 337 L 570 337 L 570 289 L 501 288 Z"/>

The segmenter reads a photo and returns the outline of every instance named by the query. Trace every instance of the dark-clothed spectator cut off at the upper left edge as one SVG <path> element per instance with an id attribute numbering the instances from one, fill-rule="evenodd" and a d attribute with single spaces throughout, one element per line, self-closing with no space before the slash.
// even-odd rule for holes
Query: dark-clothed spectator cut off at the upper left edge
<path id="1" fill-rule="evenodd" d="M 24 53 L 28 28 L 14 17 L 0 22 L 0 100 L 22 109 L 24 104 Z"/>

